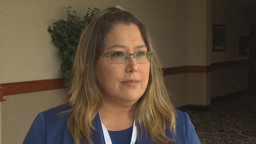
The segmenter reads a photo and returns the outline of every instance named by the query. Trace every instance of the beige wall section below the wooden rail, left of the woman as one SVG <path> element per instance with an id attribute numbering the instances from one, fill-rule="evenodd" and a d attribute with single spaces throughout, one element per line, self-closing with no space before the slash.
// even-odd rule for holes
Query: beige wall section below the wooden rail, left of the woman
<path id="1" fill-rule="evenodd" d="M 21 144 L 35 116 L 57 106 L 65 94 L 64 89 L 5 96 L 2 107 L 2 143 Z"/>

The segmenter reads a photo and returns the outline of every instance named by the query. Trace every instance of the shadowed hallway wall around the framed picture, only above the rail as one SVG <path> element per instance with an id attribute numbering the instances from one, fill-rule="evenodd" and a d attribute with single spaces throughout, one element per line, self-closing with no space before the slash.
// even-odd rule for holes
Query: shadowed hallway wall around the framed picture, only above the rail
<path id="1" fill-rule="evenodd" d="M 244 17 L 244 9 L 248 16 Z M 212 0 L 212 24 L 226 25 L 226 50 L 211 51 L 211 63 L 245 60 L 248 55 L 239 54 L 239 36 L 249 35 L 249 25 L 256 24 L 256 1 Z"/>

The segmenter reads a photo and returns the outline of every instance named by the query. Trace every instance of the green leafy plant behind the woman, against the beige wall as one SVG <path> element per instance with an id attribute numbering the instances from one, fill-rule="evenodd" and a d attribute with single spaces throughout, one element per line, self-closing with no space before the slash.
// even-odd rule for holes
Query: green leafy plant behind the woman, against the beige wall
<path id="1" fill-rule="evenodd" d="M 81 19 L 76 15 L 75 10 L 71 10 L 71 7 L 63 9 L 66 9 L 67 20 L 60 19 L 53 23 L 53 29 L 49 26 L 47 31 L 51 33 L 53 43 L 59 48 L 58 55 L 62 62 L 60 69 L 63 72 L 65 86 L 69 86 L 80 35 L 100 10 L 88 8 L 86 15 Z"/>

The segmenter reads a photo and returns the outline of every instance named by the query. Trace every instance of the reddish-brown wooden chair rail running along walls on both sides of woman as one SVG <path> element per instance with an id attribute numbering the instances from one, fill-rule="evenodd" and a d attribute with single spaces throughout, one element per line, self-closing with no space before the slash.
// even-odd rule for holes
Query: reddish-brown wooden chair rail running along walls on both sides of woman
<path id="1" fill-rule="evenodd" d="M 220 69 L 226 67 L 241 67 L 249 66 L 249 60 L 231 61 L 212 63 L 210 66 L 184 66 L 184 67 L 173 67 L 163 68 L 163 75 L 186 73 L 186 72 L 211 72 L 213 69 Z M 46 79 L 46 80 L 35 80 L 35 81 L 24 81 L 14 83 L 3 83 L 0 89 L 0 101 L 4 101 L 2 95 L 12 95 L 20 93 L 31 93 L 47 90 L 55 90 L 64 88 L 64 81 L 62 78 Z"/>

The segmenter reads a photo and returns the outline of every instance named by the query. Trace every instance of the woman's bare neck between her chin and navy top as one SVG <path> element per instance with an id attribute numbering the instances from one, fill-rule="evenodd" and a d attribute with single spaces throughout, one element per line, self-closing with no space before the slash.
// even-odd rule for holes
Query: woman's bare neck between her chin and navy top
<path id="1" fill-rule="evenodd" d="M 99 113 L 102 123 L 109 131 L 121 131 L 133 126 L 132 106 L 117 106 L 102 101 Z"/>

